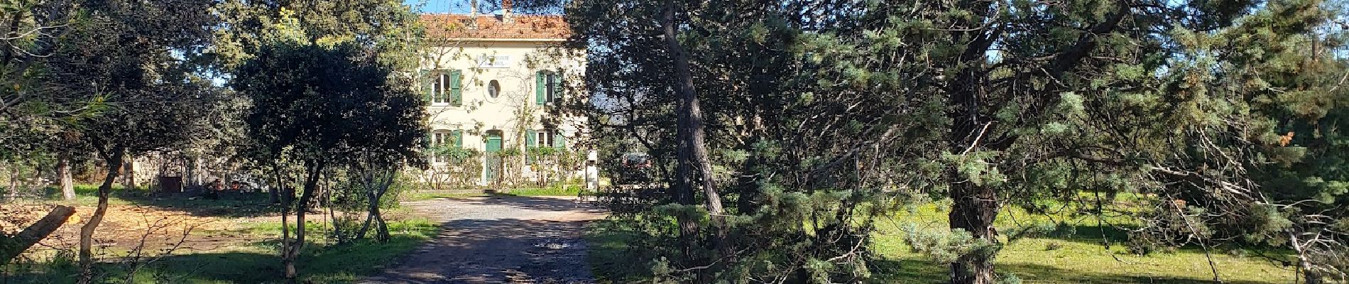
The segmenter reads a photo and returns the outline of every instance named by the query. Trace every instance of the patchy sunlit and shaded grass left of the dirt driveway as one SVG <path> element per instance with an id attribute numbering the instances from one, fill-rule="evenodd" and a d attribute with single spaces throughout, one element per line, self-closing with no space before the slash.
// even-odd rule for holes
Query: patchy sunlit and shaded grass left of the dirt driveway
<path id="1" fill-rule="evenodd" d="M 76 201 L 57 202 L 66 205 L 92 206 L 96 187 L 78 186 Z M 59 194 L 58 194 L 59 198 Z M 219 199 L 179 197 L 154 197 L 147 191 L 115 188 L 112 205 L 136 205 L 158 210 L 188 211 L 193 215 L 232 219 L 240 217 L 275 215 L 275 207 L 267 202 L 266 194 L 224 194 Z M 112 213 L 116 214 L 116 213 Z M 301 252 L 298 271 L 302 283 L 352 283 L 364 276 L 378 273 L 399 256 L 406 254 L 422 242 L 434 237 L 440 225 L 421 217 L 410 217 L 406 209 L 384 210 L 389 219 L 391 240 L 375 242 L 370 240 L 345 245 L 331 245 L 325 240 L 331 225 L 321 223 L 324 217 L 310 214 L 306 225 L 308 244 Z M 282 267 L 278 253 L 281 222 L 270 218 L 251 218 L 239 222 L 229 233 L 241 234 L 241 241 L 233 246 L 213 250 L 178 252 L 165 256 L 135 273 L 131 283 L 282 283 Z M 193 232 L 212 234 L 224 232 Z M 260 240 L 260 241 L 258 241 Z M 123 250 L 111 249 L 105 261 L 124 256 Z M 78 269 L 71 265 L 73 253 L 55 253 L 38 261 L 16 262 L 0 267 L 0 283 L 74 283 Z M 127 279 L 128 268 L 116 262 L 101 262 L 97 267 L 98 279 Z M 121 281 L 117 281 L 121 283 Z"/>

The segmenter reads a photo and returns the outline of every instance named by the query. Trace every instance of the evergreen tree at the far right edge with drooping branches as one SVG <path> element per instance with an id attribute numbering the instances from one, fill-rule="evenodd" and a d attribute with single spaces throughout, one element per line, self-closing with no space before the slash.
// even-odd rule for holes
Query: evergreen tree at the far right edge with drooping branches
<path id="1" fill-rule="evenodd" d="M 1163 89 L 1187 100 L 1155 108 L 1178 113 L 1166 125 L 1180 129 L 1174 140 L 1187 143 L 1149 160 L 1157 179 L 1171 184 L 1157 192 L 1172 207 L 1149 218 L 1183 219 L 1186 227 L 1151 222 L 1156 226 L 1145 227 L 1145 237 L 1184 244 L 1174 240 L 1198 230 L 1206 236 L 1201 241 L 1268 253 L 1306 283 L 1349 277 L 1349 176 L 1344 136 L 1334 127 L 1349 110 L 1342 104 L 1349 98 L 1344 8 L 1269 3 L 1215 32 L 1176 32 L 1182 58 L 1193 59 L 1178 59 L 1175 83 Z"/>

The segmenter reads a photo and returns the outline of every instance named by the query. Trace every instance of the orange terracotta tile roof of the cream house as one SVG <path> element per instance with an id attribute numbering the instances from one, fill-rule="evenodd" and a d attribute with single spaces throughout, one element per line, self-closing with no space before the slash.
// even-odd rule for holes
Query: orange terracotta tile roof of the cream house
<path id="1" fill-rule="evenodd" d="M 567 39 L 572 35 L 563 16 L 515 15 L 506 23 L 500 15 L 478 16 L 478 27 L 469 28 L 468 15 L 425 13 L 426 36 L 433 39 Z"/>

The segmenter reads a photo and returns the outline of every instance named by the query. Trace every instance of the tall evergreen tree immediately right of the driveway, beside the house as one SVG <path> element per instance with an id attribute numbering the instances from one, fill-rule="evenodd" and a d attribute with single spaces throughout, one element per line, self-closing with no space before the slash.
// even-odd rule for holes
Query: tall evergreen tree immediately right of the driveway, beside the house
<path id="1" fill-rule="evenodd" d="M 932 171 L 897 156 L 931 152 L 924 148 L 935 133 L 923 125 L 935 124 L 931 112 L 940 105 L 920 100 L 905 85 L 912 77 L 858 78 L 873 75 L 858 74 L 866 67 L 917 73 L 925 66 L 854 54 L 867 44 L 820 35 L 847 26 L 820 22 L 813 12 L 842 13 L 839 7 L 778 4 L 585 1 L 568 11 L 577 35 L 572 44 L 588 47 L 591 94 L 568 106 L 590 117 L 592 137 L 646 149 L 657 179 L 670 184 L 668 194 L 635 192 L 635 202 L 619 198 L 612 207 L 642 236 L 631 244 L 638 248 L 633 257 L 653 264 L 652 276 L 859 281 L 870 275 L 873 218 L 893 206 L 886 195 L 904 188 L 893 184 L 917 184 Z M 831 16 L 823 17 L 840 19 Z M 679 74 L 680 55 L 688 57 L 687 75 Z M 689 114 L 680 106 L 689 102 L 689 89 L 706 106 L 707 172 L 696 159 L 680 157 L 688 148 L 672 147 L 689 145 L 680 117 Z M 623 175 L 643 174 L 614 172 L 614 180 L 642 180 Z M 683 184 L 685 176 L 695 184 Z M 704 184 L 714 180 L 728 186 Z M 728 203 L 712 215 L 708 201 L 716 195 Z M 718 218 L 723 227 L 701 229 Z"/>

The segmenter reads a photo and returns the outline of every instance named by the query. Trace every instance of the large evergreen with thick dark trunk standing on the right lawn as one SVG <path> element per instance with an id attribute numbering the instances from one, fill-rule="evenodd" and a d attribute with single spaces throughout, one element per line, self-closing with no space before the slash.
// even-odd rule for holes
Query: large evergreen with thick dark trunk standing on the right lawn
<path id="1" fill-rule="evenodd" d="M 946 184 L 938 188 L 954 202 L 952 232 L 982 242 L 952 262 L 951 283 L 997 281 L 993 222 L 1006 205 L 1033 211 L 1036 199 L 1071 201 L 1082 191 L 1167 192 L 1151 187 L 1157 179 L 1147 160 L 1174 152 L 1148 143 L 1172 137 L 1174 118 L 1202 117 L 1203 109 L 1135 106 L 1197 100 L 1157 89 L 1194 78 L 1178 70 L 1187 61 L 1176 31 L 1218 31 L 1252 9 L 1242 1 L 948 1 L 886 5 L 863 16 L 865 31 L 881 32 L 869 38 L 902 43 L 866 52 L 917 47 L 905 62 L 935 67 L 915 74 L 909 87 L 946 105 L 939 124 Z M 1099 213 L 1109 202 L 1089 205 Z"/>

